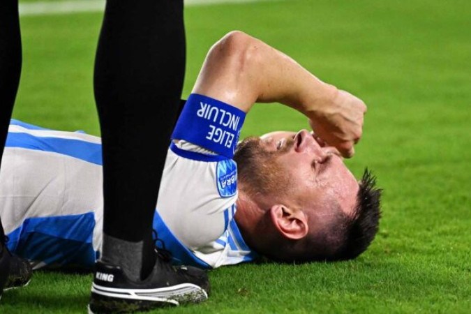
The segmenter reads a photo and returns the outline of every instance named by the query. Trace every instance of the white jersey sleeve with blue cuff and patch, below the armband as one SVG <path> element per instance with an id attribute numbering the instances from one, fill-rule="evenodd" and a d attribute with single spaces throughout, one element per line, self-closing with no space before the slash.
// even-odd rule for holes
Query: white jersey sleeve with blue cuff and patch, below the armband
<path id="1" fill-rule="evenodd" d="M 227 230 L 237 200 L 237 165 L 186 141 L 168 151 L 157 211 L 188 248 L 198 251 Z"/>

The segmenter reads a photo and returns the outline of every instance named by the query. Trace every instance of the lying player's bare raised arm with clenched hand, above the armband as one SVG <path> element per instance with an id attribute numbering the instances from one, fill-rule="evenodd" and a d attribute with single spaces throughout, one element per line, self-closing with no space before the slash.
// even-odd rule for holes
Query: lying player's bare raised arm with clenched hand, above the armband
<path id="1" fill-rule="evenodd" d="M 322 82 L 286 54 L 241 31 L 227 33 L 211 47 L 192 92 L 244 112 L 254 103 L 292 107 L 347 158 L 354 154 L 366 112 L 359 98 Z"/>

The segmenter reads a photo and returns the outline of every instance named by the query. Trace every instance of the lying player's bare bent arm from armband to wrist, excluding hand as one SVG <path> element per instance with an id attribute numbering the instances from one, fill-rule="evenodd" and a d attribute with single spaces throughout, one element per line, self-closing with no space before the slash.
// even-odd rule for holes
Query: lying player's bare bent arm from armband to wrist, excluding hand
<path id="1" fill-rule="evenodd" d="M 257 38 L 232 32 L 209 51 L 193 93 L 248 112 L 254 103 L 283 103 L 309 117 L 336 87 Z"/>

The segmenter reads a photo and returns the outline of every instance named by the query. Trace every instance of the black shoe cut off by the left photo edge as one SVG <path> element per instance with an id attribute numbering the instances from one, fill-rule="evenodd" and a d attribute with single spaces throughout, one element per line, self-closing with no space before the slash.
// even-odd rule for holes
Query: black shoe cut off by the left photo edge
<path id="1" fill-rule="evenodd" d="M 3 291 L 28 285 L 33 269 L 26 260 L 8 251 L 8 238 L 0 241 L 0 297 Z"/>

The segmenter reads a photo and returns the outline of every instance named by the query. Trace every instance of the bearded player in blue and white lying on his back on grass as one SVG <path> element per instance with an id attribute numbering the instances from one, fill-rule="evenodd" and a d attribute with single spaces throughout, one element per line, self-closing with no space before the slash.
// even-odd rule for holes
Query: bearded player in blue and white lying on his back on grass
<path id="1" fill-rule="evenodd" d="M 246 112 L 262 102 L 304 113 L 316 135 L 277 131 L 239 142 Z M 156 244 L 175 263 L 205 269 L 260 255 L 357 257 L 377 232 L 380 190 L 369 172 L 357 181 L 340 154 L 352 156 L 365 111 L 278 50 L 228 33 L 209 50 L 175 126 Z M 3 163 L 9 248 L 36 268 L 92 267 L 102 237 L 100 138 L 12 120 Z"/>

